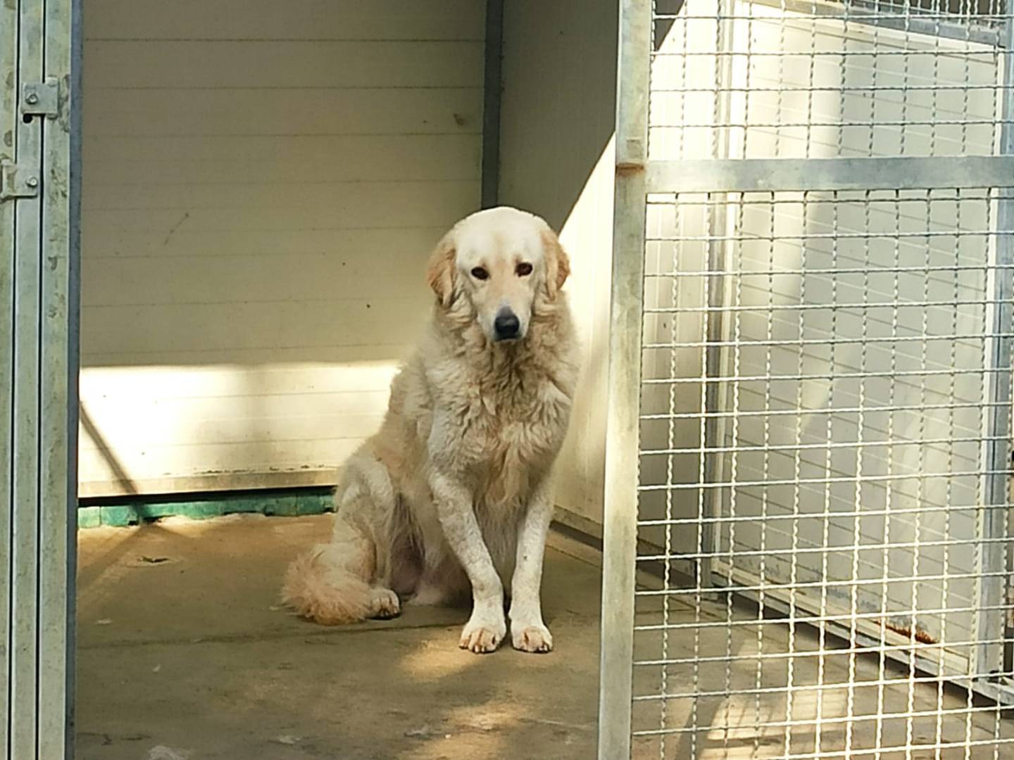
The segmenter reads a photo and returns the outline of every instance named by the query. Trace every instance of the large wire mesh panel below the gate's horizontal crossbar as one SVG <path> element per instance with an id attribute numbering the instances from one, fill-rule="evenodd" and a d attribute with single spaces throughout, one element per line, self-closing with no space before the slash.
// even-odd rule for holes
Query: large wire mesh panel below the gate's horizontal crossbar
<path id="1" fill-rule="evenodd" d="M 1009 334 L 990 295 L 1004 198 L 649 206 L 642 744 L 681 748 L 663 757 L 1014 751 L 1002 698 L 973 697 L 1010 674 L 1007 537 L 991 533 L 1008 468 L 990 456 L 1006 450 L 992 431 L 1009 400 L 991 396 L 1009 368 L 990 364 Z M 705 232 L 716 216 L 728 231 Z"/>

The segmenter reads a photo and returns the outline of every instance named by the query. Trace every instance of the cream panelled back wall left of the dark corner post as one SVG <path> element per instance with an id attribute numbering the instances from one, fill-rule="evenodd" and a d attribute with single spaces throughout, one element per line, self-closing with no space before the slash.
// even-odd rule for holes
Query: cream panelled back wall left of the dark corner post
<path id="1" fill-rule="evenodd" d="M 475 0 L 92 0 L 80 493 L 331 482 L 480 198 Z"/>

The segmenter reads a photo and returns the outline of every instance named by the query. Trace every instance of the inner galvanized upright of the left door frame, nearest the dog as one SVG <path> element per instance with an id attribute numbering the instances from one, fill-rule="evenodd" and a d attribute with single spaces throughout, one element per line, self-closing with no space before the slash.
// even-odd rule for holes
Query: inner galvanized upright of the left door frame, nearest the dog
<path id="1" fill-rule="evenodd" d="M 73 757 L 80 262 L 80 0 L 46 0 L 43 124 L 42 407 L 39 463 L 39 757 Z"/>

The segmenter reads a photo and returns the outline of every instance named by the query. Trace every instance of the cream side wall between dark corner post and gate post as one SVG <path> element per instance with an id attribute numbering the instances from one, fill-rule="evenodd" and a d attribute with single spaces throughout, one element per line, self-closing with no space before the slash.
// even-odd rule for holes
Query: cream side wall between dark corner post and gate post
<path id="1" fill-rule="evenodd" d="M 615 0 L 507 0 L 500 202 L 562 230 L 584 366 L 557 475 L 560 518 L 599 533 L 612 250 Z"/>

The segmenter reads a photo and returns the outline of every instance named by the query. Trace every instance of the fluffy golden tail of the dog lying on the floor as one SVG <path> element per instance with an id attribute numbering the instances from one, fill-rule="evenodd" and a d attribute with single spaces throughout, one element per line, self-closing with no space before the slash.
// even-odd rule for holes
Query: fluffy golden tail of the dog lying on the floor
<path id="1" fill-rule="evenodd" d="M 321 625 L 343 625 L 371 615 L 370 587 L 346 568 L 343 548 L 318 544 L 289 565 L 282 601 L 301 617 Z"/>

